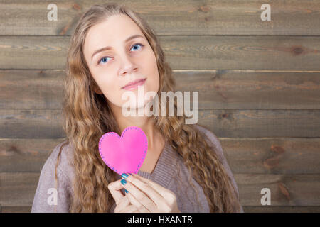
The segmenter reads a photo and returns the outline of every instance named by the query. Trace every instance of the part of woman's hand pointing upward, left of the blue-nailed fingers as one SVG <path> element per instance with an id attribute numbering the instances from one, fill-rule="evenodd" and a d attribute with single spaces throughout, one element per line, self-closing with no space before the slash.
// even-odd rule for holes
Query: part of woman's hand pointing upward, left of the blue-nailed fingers
<path id="1" fill-rule="evenodd" d="M 108 184 L 108 189 L 117 205 L 114 208 L 114 213 L 139 213 L 137 207 L 132 205 L 128 197 L 122 194 L 120 191 L 122 188 L 121 179 Z"/>

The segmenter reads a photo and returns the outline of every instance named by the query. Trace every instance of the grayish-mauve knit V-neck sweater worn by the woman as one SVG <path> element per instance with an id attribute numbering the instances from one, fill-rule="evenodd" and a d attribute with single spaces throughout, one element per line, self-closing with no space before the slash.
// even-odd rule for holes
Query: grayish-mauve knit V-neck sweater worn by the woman
<path id="1" fill-rule="evenodd" d="M 228 175 L 231 177 L 233 184 L 237 189 L 237 194 L 239 194 L 237 184 L 228 162 L 223 155 L 223 149 L 218 138 L 208 129 L 198 125 L 195 126 L 201 133 L 205 133 L 204 135 L 206 135 L 206 139 L 209 141 L 210 145 L 214 145 L 218 148 L 216 149 L 218 150 L 218 157 L 223 163 Z M 57 170 L 58 189 L 55 189 L 55 162 L 61 145 L 62 143 L 58 144 L 53 149 L 53 152 L 43 165 L 31 212 L 69 212 L 70 199 L 73 196 L 72 179 L 74 176 L 73 166 L 70 165 L 70 160 L 72 159 L 72 149 L 70 149 L 70 145 L 65 145 L 61 152 Z M 174 192 L 177 197 L 178 209 L 182 213 L 210 212 L 208 201 L 203 194 L 203 189 L 192 178 L 191 180 L 196 187 L 196 191 L 194 191 L 191 184 L 188 183 L 188 169 L 183 164 L 182 157 L 178 155 L 168 143 L 166 143 L 154 171 L 148 173 L 139 170 L 137 174 L 147 179 L 151 179 L 162 187 Z M 117 177 L 117 179 L 121 179 L 120 175 L 117 175 Z M 58 196 L 55 196 L 55 194 Z M 53 196 L 57 199 L 53 199 Z M 112 206 L 112 212 L 114 212 L 114 208 L 115 204 Z M 243 212 L 242 207 L 241 212 Z"/>

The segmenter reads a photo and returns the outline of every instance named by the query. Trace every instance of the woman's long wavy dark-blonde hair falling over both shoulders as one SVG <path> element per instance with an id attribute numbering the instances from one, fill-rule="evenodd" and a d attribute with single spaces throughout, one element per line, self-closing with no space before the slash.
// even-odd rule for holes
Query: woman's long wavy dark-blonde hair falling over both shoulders
<path id="1" fill-rule="evenodd" d="M 55 165 L 55 182 L 58 182 L 57 167 L 61 150 L 64 145 L 72 145 L 75 177 L 70 212 L 110 212 L 115 202 L 107 185 L 116 180 L 116 173 L 103 162 L 98 143 L 101 136 L 107 132 L 114 131 L 119 135 L 122 132 L 119 131 L 105 96 L 95 93 L 97 84 L 85 62 L 83 44 L 90 27 L 119 13 L 129 16 L 137 23 L 155 53 L 160 80 L 159 112 L 164 108 L 160 92 L 174 91 L 176 86 L 156 33 L 138 13 L 123 4 L 112 3 L 93 5 L 81 16 L 70 40 L 64 80 L 62 114 L 63 130 L 67 138 L 60 147 Z M 166 108 L 167 111 L 168 109 Z M 174 110 L 176 113 L 176 101 Z M 166 116 L 150 117 L 153 119 L 154 128 L 183 158 L 189 174 L 202 187 L 210 212 L 240 211 L 238 194 L 215 153 L 216 148 L 206 142 L 196 127 L 185 123 L 187 117 L 184 112 L 183 116 L 168 116 L 167 113 Z M 189 183 L 192 184 L 190 178 Z"/>

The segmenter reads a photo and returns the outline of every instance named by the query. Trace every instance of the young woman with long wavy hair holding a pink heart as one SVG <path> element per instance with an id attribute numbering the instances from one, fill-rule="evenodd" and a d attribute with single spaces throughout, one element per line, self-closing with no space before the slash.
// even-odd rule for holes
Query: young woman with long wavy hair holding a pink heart
<path id="1" fill-rule="evenodd" d="M 159 97 L 175 91 L 155 33 L 119 4 L 95 5 L 71 38 L 63 101 L 65 143 L 48 157 L 32 212 L 243 212 L 238 187 L 218 138 L 186 124 L 186 116 L 124 116 L 124 92 L 139 87 Z M 142 109 L 154 101 L 130 104 Z M 152 107 L 153 109 L 154 107 Z M 174 113 L 177 110 L 174 101 Z M 118 175 L 102 161 L 101 136 L 138 126 L 148 150 L 137 175 Z M 115 151 L 116 152 L 116 151 Z M 123 179 L 122 179 L 123 178 Z M 124 193 L 124 189 L 125 193 Z"/>

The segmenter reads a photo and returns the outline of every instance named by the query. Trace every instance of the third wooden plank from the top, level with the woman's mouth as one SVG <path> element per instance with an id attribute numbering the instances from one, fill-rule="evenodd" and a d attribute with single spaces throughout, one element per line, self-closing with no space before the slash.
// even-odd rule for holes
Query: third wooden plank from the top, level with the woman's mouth
<path id="1" fill-rule="evenodd" d="M 320 71 L 178 70 L 199 109 L 320 109 Z M 61 109 L 65 70 L 0 70 L 0 109 Z M 26 89 L 26 87 L 28 89 Z"/>

